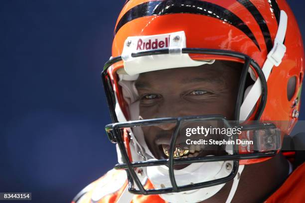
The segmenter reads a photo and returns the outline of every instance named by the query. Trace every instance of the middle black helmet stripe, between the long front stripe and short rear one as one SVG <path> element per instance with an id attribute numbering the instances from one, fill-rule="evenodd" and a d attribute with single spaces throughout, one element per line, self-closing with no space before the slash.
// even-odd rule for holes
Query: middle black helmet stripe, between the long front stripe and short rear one
<path id="1" fill-rule="evenodd" d="M 267 53 L 269 53 L 271 51 L 273 45 L 272 45 L 270 31 L 267 26 L 266 20 L 264 19 L 264 17 L 260 13 L 260 11 L 255 7 L 255 5 L 250 0 L 237 0 L 237 1 L 248 9 L 248 11 L 253 15 L 256 22 L 260 26 L 262 34 L 265 39 Z"/>

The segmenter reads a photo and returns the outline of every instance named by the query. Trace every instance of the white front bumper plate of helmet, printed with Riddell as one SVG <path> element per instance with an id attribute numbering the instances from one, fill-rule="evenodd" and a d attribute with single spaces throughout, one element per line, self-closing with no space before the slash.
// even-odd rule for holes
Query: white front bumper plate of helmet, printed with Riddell
<path id="1" fill-rule="evenodd" d="M 153 43 L 164 41 L 165 46 L 159 49 L 168 49 L 169 54 L 151 55 L 142 57 L 132 57 L 132 53 L 141 51 L 150 51 L 153 47 L 142 47 L 139 49 L 139 41 L 144 43 Z M 151 43 L 151 44 L 152 44 Z M 164 70 L 179 67 L 200 66 L 203 64 L 212 64 L 215 60 L 195 61 L 188 54 L 182 54 L 182 48 L 186 48 L 186 37 L 184 31 L 150 35 L 150 36 L 134 36 L 125 40 L 122 52 L 124 61 L 124 70 L 134 76 L 139 73 L 145 73 L 155 70 Z"/>

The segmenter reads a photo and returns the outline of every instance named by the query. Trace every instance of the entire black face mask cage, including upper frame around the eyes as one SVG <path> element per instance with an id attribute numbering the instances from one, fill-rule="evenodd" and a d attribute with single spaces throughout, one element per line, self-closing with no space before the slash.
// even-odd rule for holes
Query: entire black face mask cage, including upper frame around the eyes
<path id="1" fill-rule="evenodd" d="M 132 53 L 132 57 L 141 57 L 141 56 L 149 56 L 149 55 L 157 55 L 157 54 L 168 54 L 168 49 L 163 50 L 153 50 L 153 51 L 144 51 L 139 53 Z M 201 49 L 201 48 L 183 48 L 182 53 L 187 54 L 208 54 L 208 55 L 222 55 L 222 56 L 228 56 L 228 57 L 235 57 L 238 59 L 244 60 L 244 67 L 241 73 L 240 77 L 240 84 L 238 89 L 238 97 L 236 102 L 236 108 L 235 108 L 235 120 L 239 120 L 239 114 L 240 114 L 240 107 L 243 101 L 244 96 L 244 89 L 245 89 L 245 83 L 246 78 L 248 74 L 248 69 L 250 68 L 250 65 L 253 67 L 253 69 L 256 71 L 258 77 L 261 81 L 261 87 L 262 87 L 262 95 L 261 100 L 259 102 L 258 109 L 255 114 L 255 120 L 259 120 L 265 105 L 267 101 L 267 82 L 265 79 L 265 76 L 259 67 L 259 65 L 251 59 L 249 56 L 233 52 L 233 51 L 226 51 L 226 50 L 216 50 L 216 49 Z M 233 154 L 232 155 L 224 155 L 224 156 L 209 156 L 209 157 L 195 157 L 195 158 L 185 158 L 185 159 L 177 159 L 173 158 L 174 153 L 174 144 L 175 140 L 180 128 L 180 124 L 184 120 L 210 120 L 210 119 L 218 119 L 225 123 L 226 119 L 221 115 L 208 115 L 208 116 L 187 116 L 187 117 L 176 117 L 176 118 L 155 118 L 155 119 L 149 119 L 149 120 L 139 120 L 139 121 L 129 121 L 129 122 L 121 122 L 118 123 L 118 119 L 115 113 L 115 105 L 116 105 L 116 97 L 115 92 L 113 91 L 112 87 L 112 81 L 110 76 L 108 75 L 108 68 L 121 61 L 122 57 L 114 57 L 110 59 L 108 62 L 106 62 L 104 66 L 104 70 L 101 74 L 103 85 L 105 88 L 105 93 L 107 96 L 107 101 L 111 113 L 111 117 L 113 120 L 113 124 L 106 125 L 106 132 L 108 133 L 109 139 L 113 143 L 118 143 L 123 164 L 117 164 L 115 166 L 115 169 L 125 169 L 128 174 L 129 179 L 129 191 L 134 194 L 143 194 L 143 195 L 153 195 L 153 194 L 165 194 L 165 193 L 173 193 L 173 192 L 182 192 L 182 191 L 189 191 L 189 190 L 195 190 L 205 187 L 211 187 L 219 184 L 226 183 L 230 180 L 232 180 L 238 171 L 239 168 L 239 160 L 242 159 L 257 159 L 257 158 L 265 158 L 265 157 L 272 157 L 276 155 L 276 150 L 268 151 L 268 152 L 258 152 L 258 153 L 251 153 L 251 154 L 239 154 L 238 153 L 238 146 L 233 146 Z M 151 160 L 151 161 L 143 161 L 143 162 L 131 162 L 129 159 L 129 156 L 127 154 L 125 143 L 122 136 L 122 130 L 121 128 L 128 128 L 128 127 L 134 127 L 134 126 L 145 126 L 145 125 L 155 125 L 155 124 L 164 124 L 164 123 L 176 123 L 174 133 L 171 137 L 170 141 L 170 148 L 169 148 L 169 158 L 167 160 Z M 236 137 L 236 135 L 235 135 Z M 203 183 L 196 183 L 192 185 L 186 185 L 186 186 L 180 186 L 178 187 L 174 178 L 174 164 L 191 164 L 191 163 L 199 163 L 199 162 L 215 162 L 215 161 L 228 161 L 233 160 L 233 168 L 229 176 L 220 178 L 213 181 L 207 181 Z M 169 178 L 172 185 L 172 188 L 164 188 L 164 189 L 150 189 L 145 190 L 140 179 L 138 178 L 135 168 L 139 167 L 148 167 L 148 166 L 158 166 L 158 165 L 167 165 L 169 170 Z M 135 189 L 134 182 L 136 183 L 139 190 Z"/>

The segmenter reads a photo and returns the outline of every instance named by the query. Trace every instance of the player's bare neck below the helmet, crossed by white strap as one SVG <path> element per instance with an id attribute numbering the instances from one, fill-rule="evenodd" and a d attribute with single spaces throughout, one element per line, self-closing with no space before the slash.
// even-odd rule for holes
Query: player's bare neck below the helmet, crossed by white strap
<path id="1" fill-rule="evenodd" d="M 232 203 L 264 202 L 285 182 L 288 173 L 289 163 L 282 153 L 268 161 L 246 165 Z M 202 203 L 223 203 L 228 198 L 232 183 L 226 183 L 221 191 Z"/>

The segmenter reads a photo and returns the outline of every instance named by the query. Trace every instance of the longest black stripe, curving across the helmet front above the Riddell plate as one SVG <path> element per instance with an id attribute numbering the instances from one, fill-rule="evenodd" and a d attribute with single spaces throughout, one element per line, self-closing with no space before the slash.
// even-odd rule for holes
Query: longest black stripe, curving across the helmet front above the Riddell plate
<path id="1" fill-rule="evenodd" d="M 250 28 L 237 15 L 224 7 L 201 0 L 157 0 L 141 3 L 128 10 L 122 16 L 115 29 L 115 34 L 123 25 L 134 19 L 144 16 L 173 13 L 206 15 L 227 22 L 245 33 L 257 46 L 257 48 L 261 50 Z"/>

